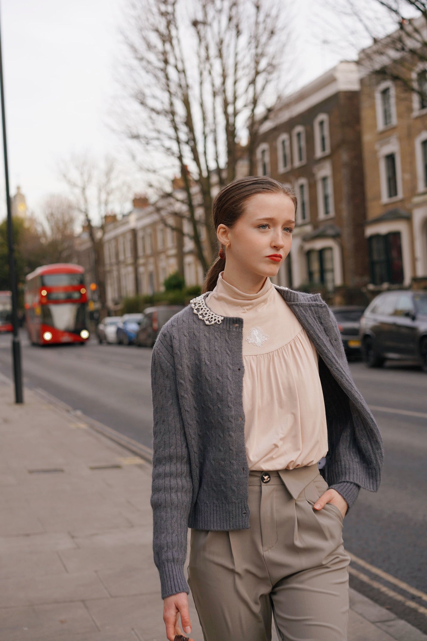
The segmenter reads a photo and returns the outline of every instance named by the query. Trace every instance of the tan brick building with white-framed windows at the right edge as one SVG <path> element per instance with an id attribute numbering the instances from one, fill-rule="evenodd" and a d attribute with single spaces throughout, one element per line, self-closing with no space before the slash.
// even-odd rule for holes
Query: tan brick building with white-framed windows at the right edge
<path id="1" fill-rule="evenodd" d="M 399 60 L 392 35 L 364 49 L 359 64 L 370 282 L 408 286 L 427 276 L 427 64 Z"/>

